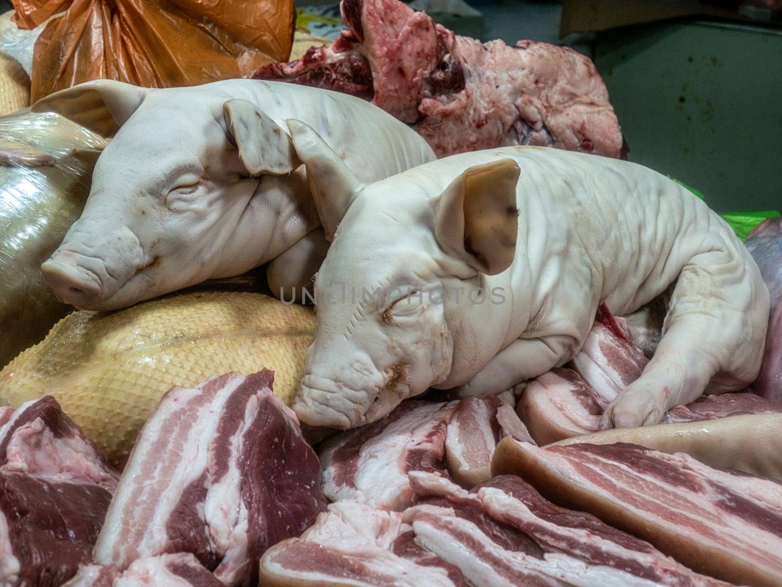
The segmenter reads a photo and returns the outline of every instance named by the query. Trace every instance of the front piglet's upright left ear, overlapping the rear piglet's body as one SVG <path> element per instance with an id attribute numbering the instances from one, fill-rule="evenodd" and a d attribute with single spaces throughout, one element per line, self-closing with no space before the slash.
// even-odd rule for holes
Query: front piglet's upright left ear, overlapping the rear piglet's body
<path id="1" fill-rule="evenodd" d="M 326 240 L 331 242 L 337 225 L 364 185 L 312 127 L 301 120 L 285 122 L 296 153 L 307 167 L 307 182 L 315 209 Z"/>

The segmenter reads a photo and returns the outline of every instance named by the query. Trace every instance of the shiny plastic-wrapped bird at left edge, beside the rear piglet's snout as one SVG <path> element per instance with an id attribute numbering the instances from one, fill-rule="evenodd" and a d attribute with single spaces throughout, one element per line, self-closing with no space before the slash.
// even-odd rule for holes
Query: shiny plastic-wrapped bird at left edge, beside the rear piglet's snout
<path id="1" fill-rule="evenodd" d="M 40 267 L 81 215 L 106 144 L 59 114 L 0 117 L 0 367 L 71 309 Z"/>

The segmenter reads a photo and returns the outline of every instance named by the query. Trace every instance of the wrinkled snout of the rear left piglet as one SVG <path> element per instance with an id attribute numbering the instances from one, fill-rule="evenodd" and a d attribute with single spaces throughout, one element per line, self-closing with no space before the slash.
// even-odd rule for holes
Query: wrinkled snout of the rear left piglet
<path id="1" fill-rule="evenodd" d="M 130 231 L 106 236 L 104 242 L 85 245 L 66 235 L 63 245 L 41 265 L 45 281 L 66 304 L 80 310 L 113 310 L 113 296 L 143 267 L 141 245 Z"/>

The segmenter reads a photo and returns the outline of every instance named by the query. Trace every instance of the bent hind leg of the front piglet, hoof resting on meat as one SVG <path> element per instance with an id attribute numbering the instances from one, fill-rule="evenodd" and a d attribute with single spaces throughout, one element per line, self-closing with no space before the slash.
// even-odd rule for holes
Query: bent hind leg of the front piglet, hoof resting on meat
<path id="1" fill-rule="evenodd" d="M 726 250 L 704 252 L 683 267 L 662 340 L 640 378 L 608 404 L 601 428 L 657 424 L 667 410 L 708 389 L 744 388 L 759 370 L 768 294 L 757 268 Z"/>

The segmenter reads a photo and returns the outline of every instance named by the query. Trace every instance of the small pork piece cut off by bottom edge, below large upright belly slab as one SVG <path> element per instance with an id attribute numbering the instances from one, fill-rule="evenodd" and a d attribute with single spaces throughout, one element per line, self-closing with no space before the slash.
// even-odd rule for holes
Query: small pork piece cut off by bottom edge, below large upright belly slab
<path id="1" fill-rule="evenodd" d="M 190 553 L 135 560 L 130 567 L 80 567 L 66 587 L 225 587 Z"/>

